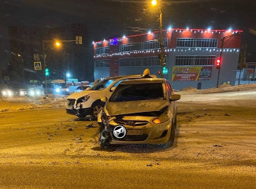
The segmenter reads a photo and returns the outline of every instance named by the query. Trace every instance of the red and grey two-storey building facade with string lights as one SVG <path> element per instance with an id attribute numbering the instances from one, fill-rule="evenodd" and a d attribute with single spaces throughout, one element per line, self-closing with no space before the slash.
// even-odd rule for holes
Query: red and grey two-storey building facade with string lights
<path id="1" fill-rule="evenodd" d="M 240 30 L 172 28 L 163 31 L 165 79 L 175 89 L 217 86 L 215 61 L 221 55 L 219 83 L 236 82 L 241 43 Z M 94 42 L 95 80 L 130 74 L 144 69 L 161 72 L 159 31 Z M 223 46 L 221 48 L 221 44 Z"/>

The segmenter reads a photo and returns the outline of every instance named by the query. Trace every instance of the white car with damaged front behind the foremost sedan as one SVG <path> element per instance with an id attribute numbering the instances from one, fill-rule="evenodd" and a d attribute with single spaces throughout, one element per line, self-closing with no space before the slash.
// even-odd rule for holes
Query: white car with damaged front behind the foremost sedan
<path id="1" fill-rule="evenodd" d="M 156 78 L 154 75 L 150 76 Z M 109 77 L 98 82 L 87 91 L 69 95 L 66 102 L 66 113 L 76 115 L 77 117 L 91 115 L 91 117 L 96 120 L 98 113 L 101 111 L 102 107 L 105 106 L 105 103 L 101 102 L 100 98 L 109 98 L 113 92 L 111 88 L 117 87 L 121 81 L 139 79 L 142 77 L 143 75 Z"/>

